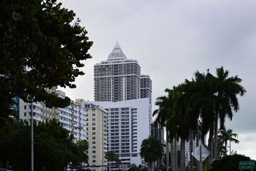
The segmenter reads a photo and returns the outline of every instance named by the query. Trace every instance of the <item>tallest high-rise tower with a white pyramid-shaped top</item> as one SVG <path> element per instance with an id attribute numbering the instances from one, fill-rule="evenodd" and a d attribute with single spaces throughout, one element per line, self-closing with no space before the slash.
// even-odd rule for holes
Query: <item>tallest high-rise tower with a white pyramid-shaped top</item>
<path id="1" fill-rule="evenodd" d="M 123 101 L 140 98 L 140 66 L 127 59 L 118 43 L 107 61 L 94 66 L 94 100 Z"/>

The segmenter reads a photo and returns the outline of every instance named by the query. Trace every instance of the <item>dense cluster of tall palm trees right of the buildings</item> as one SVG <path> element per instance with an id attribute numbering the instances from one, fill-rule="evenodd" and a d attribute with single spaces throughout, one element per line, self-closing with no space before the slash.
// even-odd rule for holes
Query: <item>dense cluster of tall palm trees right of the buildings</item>
<path id="1" fill-rule="evenodd" d="M 170 140 L 174 139 L 176 142 L 180 139 L 181 170 L 185 169 L 185 140 L 193 141 L 195 135 L 203 145 L 206 144 L 205 135 L 209 135 L 209 165 L 213 157 L 217 160 L 217 131 L 219 128 L 224 129 L 226 118 L 232 120 L 234 113 L 240 109 L 237 96 L 246 93 L 245 88 L 240 85 L 241 81 L 238 76 L 229 76 L 229 71 L 223 67 L 216 68 L 216 76 L 209 71 L 196 71 L 191 81 L 185 80 L 172 89 L 166 89 L 165 93 L 168 95 L 157 98 L 155 105 L 159 108 L 153 113 L 157 115 L 155 121 L 166 127 Z M 173 162 L 174 165 L 176 163 Z M 190 165 L 192 170 L 193 163 Z"/>

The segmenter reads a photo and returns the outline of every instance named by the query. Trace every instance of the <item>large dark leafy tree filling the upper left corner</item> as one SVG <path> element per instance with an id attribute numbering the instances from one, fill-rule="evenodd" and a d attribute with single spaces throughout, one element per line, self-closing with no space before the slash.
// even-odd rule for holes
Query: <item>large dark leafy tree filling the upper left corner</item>
<path id="1" fill-rule="evenodd" d="M 84 74 L 81 61 L 91 58 L 92 42 L 75 16 L 56 0 L 0 1 L 0 142 L 12 122 L 12 98 L 69 104 L 46 88 L 75 88 L 75 78 Z"/>

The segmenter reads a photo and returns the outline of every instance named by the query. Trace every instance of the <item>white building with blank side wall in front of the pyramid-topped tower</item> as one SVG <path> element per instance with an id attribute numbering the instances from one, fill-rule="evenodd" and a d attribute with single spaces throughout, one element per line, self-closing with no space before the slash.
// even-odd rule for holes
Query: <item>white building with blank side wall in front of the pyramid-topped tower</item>
<path id="1" fill-rule="evenodd" d="M 150 135 L 149 98 L 120 102 L 88 101 L 108 110 L 108 151 L 115 152 L 124 165 L 141 165 L 141 142 Z"/>

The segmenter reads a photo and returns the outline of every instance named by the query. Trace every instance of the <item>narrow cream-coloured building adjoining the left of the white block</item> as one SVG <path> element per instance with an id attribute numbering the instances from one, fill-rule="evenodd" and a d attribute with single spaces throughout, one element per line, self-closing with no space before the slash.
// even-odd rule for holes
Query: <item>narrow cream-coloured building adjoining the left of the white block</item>
<path id="1" fill-rule="evenodd" d="M 76 103 L 86 108 L 88 114 L 88 165 L 97 167 L 90 168 L 92 171 L 103 171 L 107 165 L 105 154 L 107 152 L 107 113 L 108 111 L 99 105 L 86 103 L 83 99 L 76 99 Z M 101 166 L 101 167 L 99 167 Z"/>

